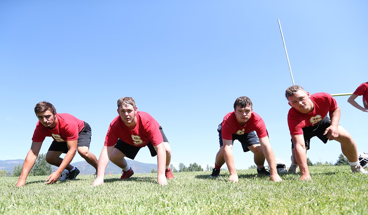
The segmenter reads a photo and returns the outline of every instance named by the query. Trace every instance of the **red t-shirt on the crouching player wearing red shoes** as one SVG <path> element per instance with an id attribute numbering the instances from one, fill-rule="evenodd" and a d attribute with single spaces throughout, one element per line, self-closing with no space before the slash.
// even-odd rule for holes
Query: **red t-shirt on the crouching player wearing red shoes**
<path id="1" fill-rule="evenodd" d="M 160 125 L 151 115 L 137 111 L 136 117 L 137 125 L 132 130 L 124 124 L 120 116 L 115 117 L 107 130 L 105 146 L 114 146 L 118 139 L 137 147 L 146 146 L 149 142 L 157 146 L 163 142 Z"/>

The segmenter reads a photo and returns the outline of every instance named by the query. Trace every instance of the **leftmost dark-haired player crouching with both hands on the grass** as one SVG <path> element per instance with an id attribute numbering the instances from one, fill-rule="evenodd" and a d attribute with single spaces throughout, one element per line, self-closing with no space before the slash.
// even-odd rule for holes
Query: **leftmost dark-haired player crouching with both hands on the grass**
<path id="1" fill-rule="evenodd" d="M 76 151 L 97 171 L 97 158 L 89 152 L 91 127 L 88 123 L 70 114 L 57 114 L 54 105 L 46 101 L 36 104 L 35 114 L 39 121 L 33 133 L 31 150 L 24 160 L 22 173 L 16 184 L 17 187 L 25 185 L 26 178 L 35 164 L 45 137 L 54 139 L 46 153 L 46 161 L 51 165 L 59 166 L 47 177 L 46 184 L 56 183 L 64 169 L 70 172 L 69 179 L 75 179 L 79 174 L 79 169 L 70 165 L 70 162 Z M 62 153 L 66 153 L 64 159 L 60 158 Z"/>

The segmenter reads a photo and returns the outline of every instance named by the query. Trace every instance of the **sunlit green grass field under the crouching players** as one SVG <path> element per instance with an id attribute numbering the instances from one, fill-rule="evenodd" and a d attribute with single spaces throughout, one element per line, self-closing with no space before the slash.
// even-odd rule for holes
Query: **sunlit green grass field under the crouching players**
<path id="1" fill-rule="evenodd" d="M 237 184 L 228 171 L 217 179 L 210 172 L 174 173 L 169 186 L 156 174 L 135 174 L 121 182 L 106 175 L 91 187 L 92 175 L 45 185 L 45 176 L 29 176 L 17 188 L 16 177 L 0 178 L 0 214 L 368 214 L 368 177 L 348 166 L 312 166 L 312 182 L 298 174 L 283 182 L 257 177 L 255 169 L 239 170 Z"/>

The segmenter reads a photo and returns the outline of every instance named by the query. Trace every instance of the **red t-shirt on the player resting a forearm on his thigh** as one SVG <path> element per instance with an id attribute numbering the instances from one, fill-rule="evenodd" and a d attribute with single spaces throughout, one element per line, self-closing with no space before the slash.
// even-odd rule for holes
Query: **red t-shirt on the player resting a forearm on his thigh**
<path id="1" fill-rule="evenodd" d="M 338 107 L 335 98 L 328 93 L 312 94 L 311 100 L 314 110 L 308 114 L 303 114 L 293 107 L 290 108 L 287 114 L 290 135 L 302 135 L 302 128 L 316 125 L 326 117 L 329 111 L 334 111 Z"/>

